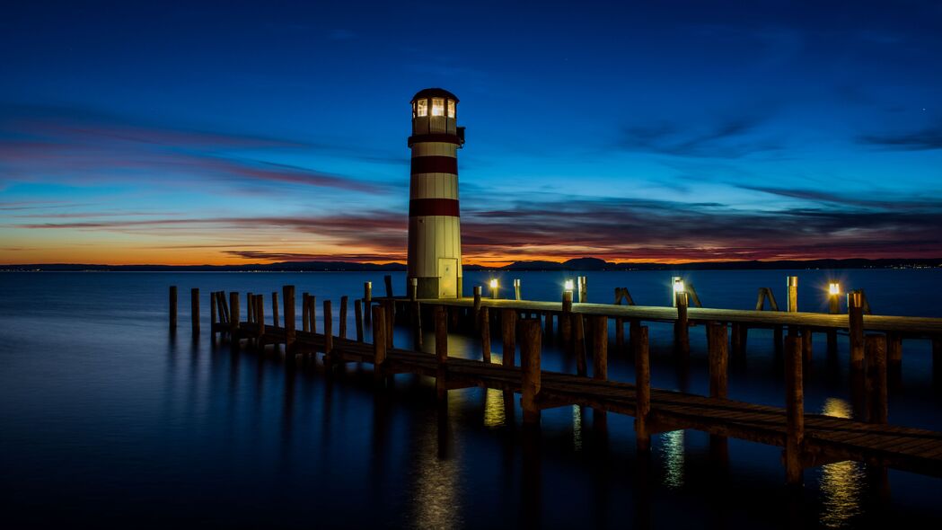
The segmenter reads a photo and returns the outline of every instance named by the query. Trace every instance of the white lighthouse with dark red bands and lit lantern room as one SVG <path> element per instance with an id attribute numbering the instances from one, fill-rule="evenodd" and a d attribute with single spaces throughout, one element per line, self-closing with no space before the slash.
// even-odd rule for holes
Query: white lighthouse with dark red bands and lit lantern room
<path id="1" fill-rule="evenodd" d="M 458 98 L 425 89 L 413 96 L 412 111 L 406 291 L 415 280 L 419 298 L 457 298 L 462 295 L 458 149 L 464 144 Z"/>

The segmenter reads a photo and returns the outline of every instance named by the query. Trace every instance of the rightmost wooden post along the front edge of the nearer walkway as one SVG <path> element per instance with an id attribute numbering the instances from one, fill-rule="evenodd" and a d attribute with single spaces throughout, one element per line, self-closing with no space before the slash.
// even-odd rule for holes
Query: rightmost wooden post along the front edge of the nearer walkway
<path id="1" fill-rule="evenodd" d="M 804 453 L 804 384 L 802 380 L 802 341 L 785 340 L 785 479 L 790 486 L 801 486 Z"/>

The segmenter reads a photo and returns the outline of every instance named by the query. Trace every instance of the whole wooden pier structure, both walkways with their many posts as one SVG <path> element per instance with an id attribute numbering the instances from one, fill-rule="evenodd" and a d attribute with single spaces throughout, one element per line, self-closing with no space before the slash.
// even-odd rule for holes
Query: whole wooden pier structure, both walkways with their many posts
<path id="1" fill-rule="evenodd" d="M 391 294 L 389 287 L 387 285 L 387 294 Z M 171 300 L 175 301 L 175 293 L 176 290 L 171 289 Z M 248 320 L 242 321 L 237 293 L 229 293 L 228 303 L 225 293 L 211 293 L 214 338 L 219 333 L 234 342 L 248 340 L 255 347 L 284 344 L 289 361 L 297 356 L 323 354 L 328 373 L 346 362 L 369 363 L 374 366 L 379 384 L 396 373 L 426 375 L 436 380 L 440 398 L 445 397 L 449 389 L 469 387 L 520 393 L 525 425 L 539 424 L 540 411 L 556 406 L 590 406 L 600 412 L 626 414 L 635 418 L 637 447 L 642 452 L 649 451 L 652 435 L 681 429 L 704 431 L 712 435 L 711 439 L 721 442 L 732 437 L 781 446 L 786 479 L 792 485 L 803 482 L 805 468 L 843 460 L 942 477 L 942 432 L 886 423 L 887 365 L 894 361 L 892 356 L 901 352 L 901 344 L 896 342 L 901 342 L 902 338 L 932 339 L 934 362 L 938 367 L 942 319 L 862 315 L 862 312 L 854 312 L 853 306 L 849 315 L 708 309 L 687 307 L 687 297 L 679 295 L 676 307 L 573 304 L 571 292 L 564 295 L 560 303 L 481 299 L 479 292 L 474 298 L 457 300 L 371 298 L 367 285 L 364 298 L 354 304 L 356 339 L 348 339 L 347 297 L 341 299 L 340 331 L 334 335 L 331 301 L 323 302 L 324 329 L 323 333 L 317 333 L 313 323 L 314 297 L 307 293 L 303 297 L 305 318 L 303 328 L 298 330 L 294 288 L 285 286 L 282 294 L 284 322 L 280 324 L 274 317 L 268 324 L 262 295 L 248 297 Z M 195 294 L 192 304 L 198 312 L 199 298 Z M 274 300 L 272 307 L 277 307 Z M 277 311 L 273 313 L 277 315 Z M 175 307 L 171 307 L 171 314 L 175 314 Z M 435 332 L 434 354 L 418 351 L 423 315 L 430 320 Z M 564 347 L 576 356 L 577 373 L 541 369 L 543 337 L 553 335 L 554 318 L 558 321 L 556 328 Z M 618 326 L 629 326 L 628 349 L 634 357 L 635 381 L 608 379 L 609 319 L 614 319 Z M 396 321 L 413 326 L 414 349 L 394 345 Z M 498 321 L 506 353 L 499 364 L 492 362 L 490 339 L 492 325 Z M 651 388 L 648 329 L 642 325 L 644 322 L 674 323 L 675 342 L 689 340 L 687 332 L 692 323 L 705 324 L 708 396 Z M 372 323 L 372 343 L 364 340 L 364 326 L 369 323 Z M 781 326 L 788 328 L 788 336 L 782 344 L 786 377 L 784 406 L 728 399 L 728 346 L 732 344 L 735 349 L 739 342 L 744 351 L 745 329 L 781 330 Z M 448 356 L 449 327 L 463 327 L 479 334 L 479 359 Z M 734 330 L 733 337 L 728 338 L 730 328 Z M 837 329 L 849 329 L 852 373 L 866 381 L 867 422 L 804 413 L 803 365 L 810 357 L 810 340 L 805 337 L 813 332 Z M 198 332 L 198 323 L 194 323 L 194 333 Z M 624 338 L 623 332 L 616 329 L 616 340 Z M 780 334 L 776 333 L 775 337 L 777 340 Z M 858 340 L 859 364 L 855 362 L 854 352 Z M 591 344 L 591 349 L 587 344 Z M 521 366 L 515 366 L 517 346 Z M 898 352 L 890 354 L 891 348 Z M 591 375 L 587 350 L 592 353 Z M 689 352 L 689 345 L 676 351 Z"/>

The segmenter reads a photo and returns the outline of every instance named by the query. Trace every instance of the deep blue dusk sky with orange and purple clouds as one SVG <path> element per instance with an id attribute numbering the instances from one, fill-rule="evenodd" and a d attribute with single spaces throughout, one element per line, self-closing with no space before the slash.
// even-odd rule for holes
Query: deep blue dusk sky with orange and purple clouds
<path id="1" fill-rule="evenodd" d="M 0 17 L 0 263 L 942 257 L 942 3 L 45 2 Z"/>

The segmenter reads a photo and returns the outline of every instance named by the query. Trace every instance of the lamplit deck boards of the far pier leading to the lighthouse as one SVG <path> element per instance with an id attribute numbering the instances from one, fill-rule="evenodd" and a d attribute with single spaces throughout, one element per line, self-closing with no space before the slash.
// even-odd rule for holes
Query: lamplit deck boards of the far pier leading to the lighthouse
<path id="1" fill-rule="evenodd" d="M 473 307 L 474 299 L 435 299 L 419 300 L 421 304 L 436 306 Z M 503 300 L 482 298 L 481 306 L 518 309 L 520 311 L 562 311 L 562 303 L 539 302 L 532 300 Z M 574 313 L 599 315 L 625 320 L 636 319 L 648 322 L 674 322 L 677 310 L 663 306 L 615 306 L 611 304 L 573 304 Z M 830 315 L 824 313 L 755 311 L 744 309 L 713 309 L 690 307 L 690 321 L 748 323 L 750 327 L 773 327 L 777 325 L 810 326 L 815 328 L 843 329 L 848 327 L 848 315 Z M 864 315 L 864 328 L 868 331 L 891 331 L 916 336 L 942 335 L 942 318 L 900 317 L 885 315 Z"/>

